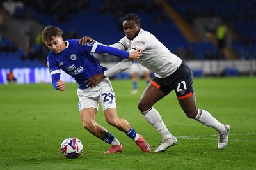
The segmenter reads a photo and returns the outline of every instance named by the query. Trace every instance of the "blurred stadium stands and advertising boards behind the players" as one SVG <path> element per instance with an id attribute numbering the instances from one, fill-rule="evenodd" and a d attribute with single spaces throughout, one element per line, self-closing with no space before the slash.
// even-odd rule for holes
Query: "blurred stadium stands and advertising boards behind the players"
<path id="1" fill-rule="evenodd" d="M 255 8 L 256 0 L 2 0 L 0 84 L 10 83 L 12 76 L 16 83 L 51 82 L 49 49 L 41 38 L 45 25 L 60 27 L 63 39 L 87 35 L 111 45 L 124 37 L 127 13 L 136 13 L 144 30 L 186 60 L 195 77 L 255 76 Z M 120 61 L 97 58 L 107 67 Z"/>

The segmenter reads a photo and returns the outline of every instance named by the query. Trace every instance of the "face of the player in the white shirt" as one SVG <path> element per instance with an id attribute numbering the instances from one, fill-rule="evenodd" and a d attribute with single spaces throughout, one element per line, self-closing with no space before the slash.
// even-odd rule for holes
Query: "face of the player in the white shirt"
<path id="1" fill-rule="evenodd" d="M 123 22 L 124 34 L 129 40 L 133 40 L 140 32 L 140 24 L 136 24 L 135 20 L 125 20 Z"/>

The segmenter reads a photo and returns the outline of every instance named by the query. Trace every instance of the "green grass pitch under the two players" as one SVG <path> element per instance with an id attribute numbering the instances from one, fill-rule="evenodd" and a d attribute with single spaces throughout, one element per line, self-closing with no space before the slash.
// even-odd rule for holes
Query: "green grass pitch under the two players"
<path id="1" fill-rule="evenodd" d="M 161 136 L 136 107 L 145 89 L 131 94 L 131 80 L 112 80 L 119 117 L 147 139 L 154 151 Z M 175 93 L 155 104 L 178 145 L 162 153 L 142 153 L 123 132 L 108 125 L 100 106 L 97 122 L 123 144 L 122 153 L 102 154 L 109 145 L 83 129 L 77 111 L 77 85 L 58 92 L 51 84 L 0 85 L 0 169 L 255 169 L 256 78 L 195 78 L 198 108 L 231 127 L 228 145 L 218 150 L 218 134 L 186 117 Z M 83 143 L 78 159 L 61 155 L 63 139 Z"/>

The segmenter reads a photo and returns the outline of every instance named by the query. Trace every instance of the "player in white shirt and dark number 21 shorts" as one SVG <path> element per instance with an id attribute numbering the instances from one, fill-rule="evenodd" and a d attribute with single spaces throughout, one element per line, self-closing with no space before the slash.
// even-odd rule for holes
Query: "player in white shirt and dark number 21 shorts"
<path id="1" fill-rule="evenodd" d="M 161 115 L 153 107 L 157 101 L 175 90 L 180 107 L 188 118 L 193 118 L 219 133 L 218 148 L 223 149 L 228 143 L 229 125 L 221 124 L 205 110 L 196 107 L 196 97 L 193 89 L 193 75 L 191 68 L 175 54 L 171 53 L 150 32 L 141 29 L 140 18 L 135 14 L 124 17 L 123 29 L 125 37 L 111 46 L 120 50 L 140 49 L 143 56 L 138 62 L 155 73 L 154 78 L 144 90 L 138 108 L 147 120 L 163 137 L 161 145 L 155 152 L 163 152 L 177 144 L 177 138 L 168 131 Z M 90 37 L 79 39 L 79 43 L 93 41 Z M 132 61 L 124 59 L 111 69 L 104 71 L 87 80 L 94 87 L 103 78 L 118 74 L 131 67 Z"/>

